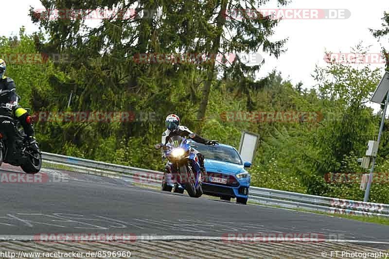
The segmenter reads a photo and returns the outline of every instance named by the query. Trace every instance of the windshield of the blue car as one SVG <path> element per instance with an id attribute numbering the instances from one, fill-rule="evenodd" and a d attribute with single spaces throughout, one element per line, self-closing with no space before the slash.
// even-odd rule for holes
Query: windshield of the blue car
<path id="1" fill-rule="evenodd" d="M 242 164 L 242 160 L 235 149 L 220 145 L 209 146 L 196 142 L 191 143 L 195 149 L 201 152 L 207 159 L 229 162 L 234 164 Z"/>

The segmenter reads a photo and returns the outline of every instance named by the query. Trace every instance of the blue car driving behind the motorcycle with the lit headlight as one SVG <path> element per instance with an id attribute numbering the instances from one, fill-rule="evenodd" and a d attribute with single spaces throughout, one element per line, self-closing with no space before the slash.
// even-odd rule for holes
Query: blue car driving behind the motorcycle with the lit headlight
<path id="1" fill-rule="evenodd" d="M 244 162 L 238 151 L 229 145 L 209 146 L 193 141 L 191 145 L 205 156 L 204 194 L 227 201 L 236 198 L 237 203 L 247 204 L 250 174 L 245 168 L 251 167 L 251 163 Z"/>

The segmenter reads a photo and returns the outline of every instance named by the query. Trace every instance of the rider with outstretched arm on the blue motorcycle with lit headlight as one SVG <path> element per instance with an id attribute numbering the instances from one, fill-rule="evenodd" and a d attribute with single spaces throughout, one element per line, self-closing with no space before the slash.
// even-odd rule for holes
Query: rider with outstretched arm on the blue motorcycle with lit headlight
<path id="1" fill-rule="evenodd" d="M 161 140 L 161 143 L 163 145 L 166 145 L 169 139 L 173 136 L 188 137 L 190 134 L 194 134 L 187 127 L 180 125 L 179 117 L 176 114 L 168 115 L 166 117 L 165 124 L 166 124 L 166 131 L 162 133 L 162 140 Z M 193 137 L 192 139 L 197 143 L 202 143 L 205 145 L 218 144 L 218 141 L 216 140 L 207 140 L 205 138 L 201 138 L 198 135 L 195 135 L 195 137 Z M 200 170 L 204 175 L 206 173 L 204 167 L 204 155 L 195 149 L 193 149 L 192 152 L 197 155 L 198 162 L 200 164 Z"/>

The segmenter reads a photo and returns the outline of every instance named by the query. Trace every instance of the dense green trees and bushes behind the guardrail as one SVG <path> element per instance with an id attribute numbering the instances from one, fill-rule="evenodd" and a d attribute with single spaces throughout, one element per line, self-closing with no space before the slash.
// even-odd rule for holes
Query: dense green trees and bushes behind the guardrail
<path id="1" fill-rule="evenodd" d="M 139 63 L 142 53 L 282 54 L 285 40 L 271 42 L 279 22 L 270 17 L 229 19 L 226 9 L 259 6 L 266 1 L 42 0 L 53 8 L 125 10 L 137 15 L 103 19 L 89 27 L 85 17 L 50 19 L 31 10 L 41 33 L 0 40 L 0 53 L 61 53 L 63 62 L 9 64 L 22 96 L 33 112 L 131 111 L 132 122 L 39 121 L 35 128 L 44 151 L 161 170 L 153 149 L 169 113 L 206 138 L 238 146 L 242 130 L 260 135 L 251 169 L 252 185 L 361 200 L 359 183 L 327 183 L 327 173 L 362 173 L 356 162 L 367 141 L 378 134 L 380 114 L 367 106 L 382 70 L 332 62 L 313 68 L 317 85 L 294 86 L 273 71 L 253 80 L 265 63 L 248 66 L 233 60 L 161 64 Z M 279 4 L 285 1 L 279 0 Z M 151 17 L 143 11 L 158 10 Z M 189 12 L 188 10 L 191 10 Z M 384 18 L 388 21 L 388 16 Z M 386 26 L 386 27 L 385 27 Z M 388 33 L 389 25 L 374 31 Z M 384 50 L 385 51 L 385 50 Z M 137 56 L 138 55 L 138 56 Z M 50 55 L 49 55 L 50 56 Z M 70 100 L 71 97 L 71 100 Z M 70 103 L 69 103 L 70 100 Z M 70 105 L 69 105 L 70 104 Z M 315 120 L 226 120 L 229 112 L 309 112 Z M 148 116 L 144 117 L 147 114 Z M 141 116 L 142 115 L 142 116 Z M 150 116 L 152 115 L 152 116 Z M 376 172 L 389 172 L 389 133 L 385 125 Z M 389 185 L 373 184 L 371 201 L 389 203 Z"/>

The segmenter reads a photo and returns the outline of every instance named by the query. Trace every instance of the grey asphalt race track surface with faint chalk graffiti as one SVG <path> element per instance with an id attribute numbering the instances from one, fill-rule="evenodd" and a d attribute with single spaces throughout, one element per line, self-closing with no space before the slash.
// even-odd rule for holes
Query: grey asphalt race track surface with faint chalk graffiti
<path id="1" fill-rule="evenodd" d="M 3 164 L 3 173 L 21 171 Z M 47 181 L 9 183 L 2 178 L 1 236 L 131 233 L 222 237 L 228 233 L 320 233 L 345 240 L 389 242 L 387 225 L 190 198 L 187 194 L 150 190 L 121 179 L 82 173 L 42 169 L 39 174 Z M 380 244 L 379 248 L 389 249 L 389 245 Z"/>

